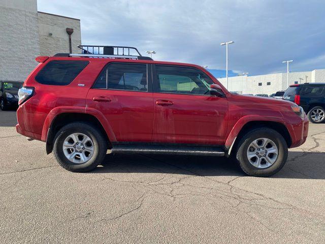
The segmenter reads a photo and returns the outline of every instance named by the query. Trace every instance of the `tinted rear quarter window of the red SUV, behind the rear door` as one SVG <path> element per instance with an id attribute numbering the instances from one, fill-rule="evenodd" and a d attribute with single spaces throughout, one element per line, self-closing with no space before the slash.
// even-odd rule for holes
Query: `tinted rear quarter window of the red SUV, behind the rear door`
<path id="1" fill-rule="evenodd" d="M 88 64 L 88 61 L 53 60 L 47 63 L 35 79 L 46 85 L 68 85 Z"/>

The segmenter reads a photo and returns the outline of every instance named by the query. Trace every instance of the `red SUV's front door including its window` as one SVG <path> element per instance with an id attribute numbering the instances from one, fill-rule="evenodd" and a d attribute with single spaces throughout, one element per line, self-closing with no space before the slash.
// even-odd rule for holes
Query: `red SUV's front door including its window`
<path id="1" fill-rule="evenodd" d="M 212 79 L 192 67 L 155 65 L 153 71 L 153 142 L 223 144 L 228 102 L 210 95 Z"/>

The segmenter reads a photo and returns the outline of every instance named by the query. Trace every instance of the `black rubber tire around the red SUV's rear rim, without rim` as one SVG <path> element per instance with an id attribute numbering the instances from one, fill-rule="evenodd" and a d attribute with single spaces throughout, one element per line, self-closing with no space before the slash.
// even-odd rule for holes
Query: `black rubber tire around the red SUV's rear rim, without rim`
<path id="1" fill-rule="evenodd" d="M 68 136 L 73 133 L 82 133 L 88 136 L 93 142 L 93 155 L 85 163 L 73 163 L 63 153 L 63 142 Z M 106 156 L 106 151 L 106 138 L 99 130 L 86 123 L 76 122 L 64 126 L 57 132 L 54 138 L 53 152 L 57 162 L 64 169 L 72 172 L 87 172 L 93 170 L 103 162 Z"/>

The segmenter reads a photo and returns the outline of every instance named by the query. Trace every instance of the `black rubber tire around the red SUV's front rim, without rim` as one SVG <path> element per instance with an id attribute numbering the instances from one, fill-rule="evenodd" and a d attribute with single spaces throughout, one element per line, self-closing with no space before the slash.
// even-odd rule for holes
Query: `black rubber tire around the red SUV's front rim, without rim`
<path id="1" fill-rule="evenodd" d="M 247 157 L 247 150 L 253 140 L 259 138 L 271 139 L 278 148 L 278 158 L 268 168 L 257 168 L 252 165 Z M 267 127 L 257 128 L 249 131 L 238 143 L 236 159 L 241 169 L 248 175 L 266 177 L 277 173 L 285 164 L 288 157 L 288 146 L 284 138 L 275 130 Z"/>

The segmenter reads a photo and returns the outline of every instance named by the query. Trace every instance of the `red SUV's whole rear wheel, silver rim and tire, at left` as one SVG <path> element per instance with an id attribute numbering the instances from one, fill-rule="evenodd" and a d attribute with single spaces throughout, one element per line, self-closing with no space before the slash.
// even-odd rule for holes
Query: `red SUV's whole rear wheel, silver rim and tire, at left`
<path id="1" fill-rule="evenodd" d="M 102 163 L 107 151 L 107 142 L 101 132 L 93 126 L 72 123 L 57 132 L 53 151 L 63 168 L 73 172 L 86 172 Z"/>

